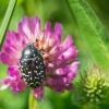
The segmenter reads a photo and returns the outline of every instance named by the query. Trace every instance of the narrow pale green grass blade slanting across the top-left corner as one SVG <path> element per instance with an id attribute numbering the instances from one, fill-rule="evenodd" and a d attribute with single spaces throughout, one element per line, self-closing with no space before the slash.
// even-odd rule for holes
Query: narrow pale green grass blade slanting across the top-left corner
<path id="1" fill-rule="evenodd" d="M 17 0 L 11 0 L 0 27 L 0 50 Z"/>

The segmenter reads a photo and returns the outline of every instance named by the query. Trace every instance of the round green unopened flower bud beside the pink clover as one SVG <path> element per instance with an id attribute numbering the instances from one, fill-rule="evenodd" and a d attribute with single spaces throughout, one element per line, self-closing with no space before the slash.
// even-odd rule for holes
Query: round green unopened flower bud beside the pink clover
<path id="1" fill-rule="evenodd" d="M 85 71 L 78 83 L 83 102 L 107 102 L 109 95 L 109 80 L 105 71 L 97 66 Z"/>

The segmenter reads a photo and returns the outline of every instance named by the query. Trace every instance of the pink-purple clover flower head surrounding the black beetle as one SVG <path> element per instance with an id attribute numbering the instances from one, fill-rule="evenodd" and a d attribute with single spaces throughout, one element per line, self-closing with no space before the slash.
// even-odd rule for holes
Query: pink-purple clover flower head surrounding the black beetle
<path id="1" fill-rule="evenodd" d="M 62 25 L 55 24 L 55 31 L 47 21 L 44 29 L 40 27 L 40 20 L 37 16 L 24 16 L 17 24 L 17 32 L 8 31 L 5 40 L 0 52 L 0 62 L 8 65 L 8 77 L 1 80 L 0 89 L 11 87 L 15 94 L 23 92 L 28 86 L 22 77 L 20 70 L 20 59 L 27 44 L 34 44 L 38 50 L 43 50 L 43 59 L 46 66 L 46 78 L 41 86 L 33 88 L 36 98 L 44 98 L 44 86 L 52 90 L 63 93 L 65 89 L 72 90 L 72 80 L 78 71 L 78 61 L 75 61 L 77 50 L 73 46 L 71 35 L 65 40 L 62 39 Z"/>

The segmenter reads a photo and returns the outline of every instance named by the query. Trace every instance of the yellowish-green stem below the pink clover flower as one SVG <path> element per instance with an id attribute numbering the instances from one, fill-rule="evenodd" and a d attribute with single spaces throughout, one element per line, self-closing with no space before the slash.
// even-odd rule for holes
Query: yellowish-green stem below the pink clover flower
<path id="1" fill-rule="evenodd" d="M 29 94 L 29 99 L 28 99 L 28 109 L 38 109 L 37 101 L 32 92 Z"/>

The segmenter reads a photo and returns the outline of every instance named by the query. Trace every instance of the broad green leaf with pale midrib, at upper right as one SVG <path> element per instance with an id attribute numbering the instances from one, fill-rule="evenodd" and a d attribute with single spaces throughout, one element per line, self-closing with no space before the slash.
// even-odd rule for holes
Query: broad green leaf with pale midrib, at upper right
<path id="1" fill-rule="evenodd" d="M 65 0 L 96 63 L 109 70 L 109 38 L 85 0 Z"/>

